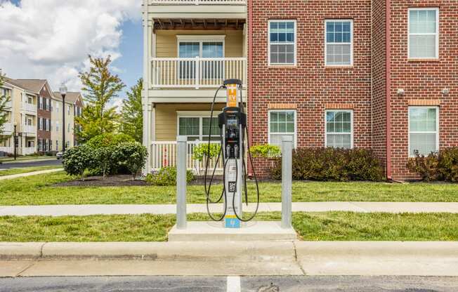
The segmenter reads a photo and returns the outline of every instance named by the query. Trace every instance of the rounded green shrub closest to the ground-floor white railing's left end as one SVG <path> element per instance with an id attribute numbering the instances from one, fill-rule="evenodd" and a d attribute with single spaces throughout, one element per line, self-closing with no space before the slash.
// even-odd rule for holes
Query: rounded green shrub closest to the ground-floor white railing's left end
<path id="1" fill-rule="evenodd" d="M 113 152 L 112 159 L 131 172 L 133 179 L 146 164 L 148 150 L 139 142 L 122 142 Z"/>

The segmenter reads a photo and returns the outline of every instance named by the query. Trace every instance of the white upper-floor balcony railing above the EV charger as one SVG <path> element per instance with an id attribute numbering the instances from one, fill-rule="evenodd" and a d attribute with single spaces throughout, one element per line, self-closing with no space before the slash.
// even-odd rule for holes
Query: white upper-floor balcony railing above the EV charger
<path id="1" fill-rule="evenodd" d="M 247 83 L 246 58 L 153 58 L 152 88 L 215 88 L 225 79 Z"/>

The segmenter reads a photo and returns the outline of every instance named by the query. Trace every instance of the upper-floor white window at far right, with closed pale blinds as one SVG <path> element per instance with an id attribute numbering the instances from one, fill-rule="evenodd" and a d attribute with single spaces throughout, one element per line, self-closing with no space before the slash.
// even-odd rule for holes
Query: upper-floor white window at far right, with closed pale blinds
<path id="1" fill-rule="evenodd" d="M 409 58 L 439 58 L 439 9 L 411 8 L 408 18 Z"/>

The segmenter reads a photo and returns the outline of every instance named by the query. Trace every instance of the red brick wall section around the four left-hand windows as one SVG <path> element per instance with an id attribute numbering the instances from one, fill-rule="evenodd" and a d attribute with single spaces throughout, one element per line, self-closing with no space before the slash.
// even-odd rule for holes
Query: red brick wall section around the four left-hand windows
<path id="1" fill-rule="evenodd" d="M 253 0 L 253 144 L 268 142 L 268 107 L 296 105 L 299 147 L 325 146 L 327 107 L 353 108 L 354 145 L 372 147 L 371 1 Z M 353 19 L 353 67 L 325 67 L 325 20 Z M 297 21 L 296 67 L 268 66 L 268 20 Z M 283 107 L 280 105 L 280 107 Z"/>

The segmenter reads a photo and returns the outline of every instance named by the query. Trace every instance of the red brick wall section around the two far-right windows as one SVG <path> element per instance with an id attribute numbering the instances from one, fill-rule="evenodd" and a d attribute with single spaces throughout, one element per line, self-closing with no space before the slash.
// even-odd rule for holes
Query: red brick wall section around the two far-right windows
<path id="1" fill-rule="evenodd" d="M 406 168 L 408 106 L 440 102 L 440 148 L 458 146 L 458 3 L 456 0 L 391 1 L 391 112 L 393 178 L 416 178 Z M 440 8 L 439 60 L 412 62 L 407 59 L 407 9 Z M 405 90 L 398 95 L 398 88 Z M 442 90 L 448 88 L 449 95 Z M 423 102 L 422 102 L 423 101 Z"/>

